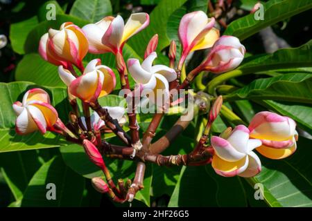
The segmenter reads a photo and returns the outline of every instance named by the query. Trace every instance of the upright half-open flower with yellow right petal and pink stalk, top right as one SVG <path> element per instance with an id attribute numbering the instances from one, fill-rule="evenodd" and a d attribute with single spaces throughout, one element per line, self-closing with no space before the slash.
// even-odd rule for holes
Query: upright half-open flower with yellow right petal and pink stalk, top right
<path id="1" fill-rule="evenodd" d="M 184 15 L 180 21 L 179 38 L 182 44 L 180 68 L 189 52 L 211 48 L 220 37 L 214 28 L 215 19 L 209 19 L 205 12 L 196 11 Z"/>

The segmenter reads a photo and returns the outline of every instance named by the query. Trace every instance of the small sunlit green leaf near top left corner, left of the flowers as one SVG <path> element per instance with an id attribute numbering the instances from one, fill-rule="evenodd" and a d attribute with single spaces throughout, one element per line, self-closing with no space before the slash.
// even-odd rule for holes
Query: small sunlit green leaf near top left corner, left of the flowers
<path id="1" fill-rule="evenodd" d="M 25 53 L 24 44 L 26 42 L 27 35 L 29 32 L 31 32 L 31 30 L 33 30 L 33 27 L 35 27 L 37 23 L 37 16 L 34 16 L 29 19 L 11 24 L 10 41 L 15 52 L 20 55 Z"/>

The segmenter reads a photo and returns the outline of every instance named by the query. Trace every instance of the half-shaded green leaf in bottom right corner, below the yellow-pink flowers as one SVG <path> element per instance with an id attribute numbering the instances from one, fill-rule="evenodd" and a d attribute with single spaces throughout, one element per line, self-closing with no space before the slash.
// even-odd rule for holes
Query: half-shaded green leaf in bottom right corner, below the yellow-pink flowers
<path id="1" fill-rule="evenodd" d="M 259 175 L 249 178 L 252 186 L 263 184 L 264 198 L 269 206 L 311 206 L 311 140 L 299 137 L 297 151 L 284 160 L 268 160 L 263 163 Z"/>

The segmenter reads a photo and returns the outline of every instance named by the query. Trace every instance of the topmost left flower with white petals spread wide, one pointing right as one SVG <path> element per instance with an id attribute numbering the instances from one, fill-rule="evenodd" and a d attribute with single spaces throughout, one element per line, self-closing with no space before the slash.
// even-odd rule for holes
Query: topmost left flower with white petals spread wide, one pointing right
<path id="1" fill-rule="evenodd" d="M 120 15 L 117 15 L 87 24 L 83 27 L 83 32 L 89 41 L 89 52 L 93 54 L 121 52 L 125 41 L 146 28 L 149 23 L 148 14 L 141 12 L 130 15 L 126 23 Z"/>

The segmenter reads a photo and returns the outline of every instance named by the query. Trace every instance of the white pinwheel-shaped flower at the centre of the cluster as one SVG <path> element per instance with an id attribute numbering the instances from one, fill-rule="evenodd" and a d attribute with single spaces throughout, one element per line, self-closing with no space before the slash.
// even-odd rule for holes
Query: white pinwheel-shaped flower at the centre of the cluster
<path id="1" fill-rule="evenodd" d="M 156 57 L 156 52 L 151 52 L 142 64 L 138 59 L 128 59 L 128 70 L 150 102 L 163 107 L 169 98 L 168 82 L 177 79 L 177 73 L 164 65 L 153 66 Z"/>

